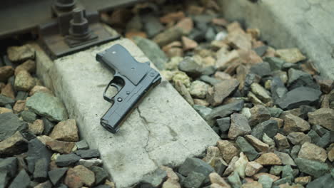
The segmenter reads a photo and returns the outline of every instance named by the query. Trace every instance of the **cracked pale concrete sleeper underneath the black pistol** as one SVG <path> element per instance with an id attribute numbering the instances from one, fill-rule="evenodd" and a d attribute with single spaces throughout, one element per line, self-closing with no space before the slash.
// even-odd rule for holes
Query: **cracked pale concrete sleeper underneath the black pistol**
<path id="1" fill-rule="evenodd" d="M 100 117 L 111 104 L 102 96 L 113 76 L 95 56 L 115 43 L 138 61 L 148 61 L 132 41 L 121 39 L 54 62 L 38 50 L 37 73 L 64 100 L 81 136 L 101 152 L 117 187 L 130 187 L 160 165 L 175 167 L 186 157 L 201 155 L 219 137 L 167 80 L 144 98 L 116 135 L 104 130 Z"/>

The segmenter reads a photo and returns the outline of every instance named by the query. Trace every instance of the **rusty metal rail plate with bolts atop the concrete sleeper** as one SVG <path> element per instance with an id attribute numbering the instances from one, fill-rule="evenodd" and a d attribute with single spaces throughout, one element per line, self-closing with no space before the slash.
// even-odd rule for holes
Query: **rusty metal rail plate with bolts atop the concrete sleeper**
<path id="1" fill-rule="evenodd" d="M 39 39 L 53 59 L 120 38 L 106 30 L 97 12 L 86 13 L 75 0 L 56 0 L 51 9 L 54 19 L 39 25 Z"/>

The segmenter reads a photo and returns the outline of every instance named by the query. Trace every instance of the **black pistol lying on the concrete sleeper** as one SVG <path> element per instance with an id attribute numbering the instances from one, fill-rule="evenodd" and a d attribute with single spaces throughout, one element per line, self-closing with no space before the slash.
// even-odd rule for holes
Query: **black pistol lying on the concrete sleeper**
<path id="1" fill-rule="evenodd" d="M 119 44 L 96 54 L 99 61 L 111 68 L 113 79 L 103 93 L 103 98 L 113 103 L 101 117 L 101 125 L 109 132 L 116 133 L 126 116 L 136 108 L 143 96 L 161 82 L 161 75 L 150 67 L 150 63 L 139 63 Z M 108 96 L 109 87 L 116 90 L 116 95 Z"/>

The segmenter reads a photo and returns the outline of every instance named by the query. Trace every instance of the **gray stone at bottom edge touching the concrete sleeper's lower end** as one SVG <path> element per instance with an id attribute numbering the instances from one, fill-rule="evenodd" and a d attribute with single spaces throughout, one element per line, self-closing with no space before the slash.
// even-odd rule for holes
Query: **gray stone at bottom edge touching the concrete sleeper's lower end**
<path id="1" fill-rule="evenodd" d="M 141 180 L 141 188 L 156 188 L 159 187 L 167 177 L 166 171 L 163 169 L 156 169 L 150 174 L 146 174 Z"/>

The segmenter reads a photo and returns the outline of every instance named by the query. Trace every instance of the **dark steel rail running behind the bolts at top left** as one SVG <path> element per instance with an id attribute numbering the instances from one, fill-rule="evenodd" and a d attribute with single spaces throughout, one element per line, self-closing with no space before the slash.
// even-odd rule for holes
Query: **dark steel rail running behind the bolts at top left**
<path id="1" fill-rule="evenodd" d="M 86 11 L 110 11 L 140 1 L 148 0 L 76 0 L 76 5 L 72 8 L 84 7 Z M 1 0 L 0 39 L 14 34 L 35 31 L 39 24 L 49 22 L 56 17 L 59 18 L 59 15 L 50 14 L 53 2 L 54 0 Z M 56 13 L 54 12 L 54 14 Z"/>

